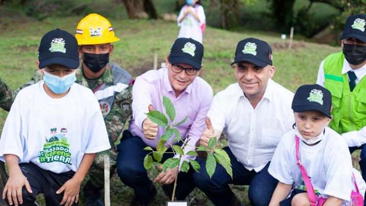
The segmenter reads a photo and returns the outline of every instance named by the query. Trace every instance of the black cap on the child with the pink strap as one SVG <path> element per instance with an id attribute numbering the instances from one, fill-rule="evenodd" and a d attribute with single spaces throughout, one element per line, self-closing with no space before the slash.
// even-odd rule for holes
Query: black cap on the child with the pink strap
<path id="1" fill-rule="evenodd" d="M 332 107 L 332 95 L 328 89 L 318 84 L 305 84 L 300 86 L 293 96 L 291 108 L 294 112 L 316 110 L 329 118 Z"/>

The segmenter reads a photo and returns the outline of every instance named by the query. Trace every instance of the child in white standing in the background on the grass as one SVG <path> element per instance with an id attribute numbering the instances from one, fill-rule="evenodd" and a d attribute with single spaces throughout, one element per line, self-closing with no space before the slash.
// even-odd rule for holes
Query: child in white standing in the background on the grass
<path id="1" fill-rule="evenodd" d="M 202 44 L 206 16 L 200 0 L 186 0 L 177 18 L 180 27 L 177 38 L 192 38 Z"/>

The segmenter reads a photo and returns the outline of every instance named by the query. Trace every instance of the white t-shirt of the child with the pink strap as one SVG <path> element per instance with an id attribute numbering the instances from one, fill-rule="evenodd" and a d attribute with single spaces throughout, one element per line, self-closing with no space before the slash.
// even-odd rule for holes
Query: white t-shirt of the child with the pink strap
<path id="1" fill-rule="evenodd" d="M 282 183 L 293 184 L 293 189 L 306 190 L 296 164 L 295 130 L 296 128 L 286 132 L 282 137 L 268 172 Z M 353 170 L 351 154 L 342 136 L 328 127 L 324 131 L 324 137 L 317 145 L 309 146 L 300 140 L 300 161 L 318 196 L 333 196 L 344 200 L 343 205 L 347 205 L 351 191 L 356 191 L 352 172 L 355 173 L 362 195 L 365 194 L 366 184 L 361 174 Z"/>

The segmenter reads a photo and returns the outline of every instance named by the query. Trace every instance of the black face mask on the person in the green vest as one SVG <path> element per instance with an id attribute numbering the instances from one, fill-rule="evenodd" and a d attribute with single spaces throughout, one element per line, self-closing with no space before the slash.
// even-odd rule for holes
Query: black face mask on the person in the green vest
<path id="1" fill-rule="evenodd" d="M 359 65 L 366 60 L 366 46 L 357 44 L 343 44 L 343 54 L 348 63 Z"/>

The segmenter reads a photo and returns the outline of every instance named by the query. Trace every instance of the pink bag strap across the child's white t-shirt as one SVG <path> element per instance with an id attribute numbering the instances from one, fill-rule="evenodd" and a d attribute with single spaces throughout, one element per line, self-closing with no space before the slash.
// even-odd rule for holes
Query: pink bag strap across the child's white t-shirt
<path id="1" fill-rule="evenodd" d="M 302 180 L 304 180 L 310 204 L 311 206 L 317 206 L 317 196 L 315 195 L 313 184 L 311 183 L 309 176 L 306 173 L 304 166 L 302 166 L 299 158 L 299 145 L 300 145 L 300 139 L 297 135 L 295 135 L 296 164 L 300 168 Z"/>

